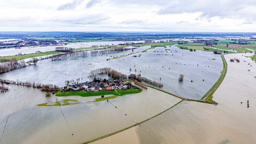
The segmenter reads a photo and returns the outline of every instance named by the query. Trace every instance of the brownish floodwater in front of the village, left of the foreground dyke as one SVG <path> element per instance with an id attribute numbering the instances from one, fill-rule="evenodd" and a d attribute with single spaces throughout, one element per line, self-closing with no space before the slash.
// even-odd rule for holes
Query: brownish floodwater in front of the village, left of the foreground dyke
<path id="1" fill-rule="evenodd" d="M 35 88 L 8 87 L 11 90 L 0 96 L 1 132 L 10 114 L 1 143 L 83 143 L 148 119 L 181 100 L 152 88 L 109 102 L 87 102 L 96 97 L 57 97 L 80 101 L 61 106 L 64 119 L 59 107 L 36 107 L 54 102 L 56 96 L 47 98 Z"/>

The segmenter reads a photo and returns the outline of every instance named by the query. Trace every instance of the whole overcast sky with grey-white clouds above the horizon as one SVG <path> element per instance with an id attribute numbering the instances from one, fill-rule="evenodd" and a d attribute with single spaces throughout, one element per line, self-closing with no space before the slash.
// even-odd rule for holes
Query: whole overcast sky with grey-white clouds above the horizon
<path id="1" fill-rule="evenodd" d="M 256 32 L 255 0 L 0 0 L 0 31 Z"/>

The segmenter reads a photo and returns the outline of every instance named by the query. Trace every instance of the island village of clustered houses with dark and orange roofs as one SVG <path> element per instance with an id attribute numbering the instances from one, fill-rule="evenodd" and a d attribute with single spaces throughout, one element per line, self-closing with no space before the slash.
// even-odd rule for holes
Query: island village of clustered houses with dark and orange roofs
<path id="1" fill-rule="evenodd" d="M 124 90 L 132 90 L 139 89 L 138 87 L 132 85 L 131 83 L 127 83 L 123 80 L 113 80 L 113 79 L 101 79 L 94 78 L 93 81 L 86 81 L 84 83 L 79 83 L 75 85 L 68 85 L 67 87 L 63 87 L 61 92 L 71 92 L 71 91 L 87 91 L 87 92 L 98 92 L 98 91 L 111 91 L 115 89 L 124 89 Z"/>

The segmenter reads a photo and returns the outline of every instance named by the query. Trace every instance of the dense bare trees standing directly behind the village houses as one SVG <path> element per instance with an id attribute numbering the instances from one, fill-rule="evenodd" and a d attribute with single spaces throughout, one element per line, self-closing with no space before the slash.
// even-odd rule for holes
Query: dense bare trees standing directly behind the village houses
<path id="1" fill-rule="evenodd" d="M 107 74 L 108 76 L 112 77 L 115 80 L 127 79 L 127 75 L 117 72 L 115 69 L 112 69 L 112 68 L 97 68 L 89 72 L 90 77 L 101 75 L 101 74 Z"/>

